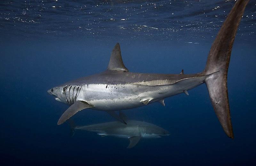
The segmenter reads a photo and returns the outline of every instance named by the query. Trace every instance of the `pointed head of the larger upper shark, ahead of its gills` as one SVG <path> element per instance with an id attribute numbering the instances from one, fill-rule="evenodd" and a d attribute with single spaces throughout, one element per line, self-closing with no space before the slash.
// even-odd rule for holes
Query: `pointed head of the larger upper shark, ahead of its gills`
<path id="1" fill-rule="evenodd" d="M 56 87 L 53 87 L 52 89 L 49 89 L 47 92 L 50 95 L 54 96 L 55 100 L 68 104 L 66 93 L 65 93 L 66 87 L 67 86 L 56 86 Z"/>

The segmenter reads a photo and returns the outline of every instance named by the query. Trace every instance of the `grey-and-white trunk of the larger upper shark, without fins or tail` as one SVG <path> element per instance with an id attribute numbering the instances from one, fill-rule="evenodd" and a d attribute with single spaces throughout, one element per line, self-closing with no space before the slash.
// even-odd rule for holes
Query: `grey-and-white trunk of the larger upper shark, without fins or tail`
<path id="1" fill-rule="evenodd" d="M 61 101 L 66 104 L 74 104 L 77 100 L 86 101 L 94 106 L 91 109 L 102 111 L 131 109 L 162 102 L 164 98 L 190 90 L 202 84 L 206 76 L 107 70 L 61 85 L 66 93 Z"/>

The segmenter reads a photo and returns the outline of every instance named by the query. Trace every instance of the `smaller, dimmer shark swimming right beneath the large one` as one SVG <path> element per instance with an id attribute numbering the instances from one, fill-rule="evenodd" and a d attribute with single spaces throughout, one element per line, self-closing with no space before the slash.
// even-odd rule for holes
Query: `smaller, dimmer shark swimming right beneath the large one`
<path id="1" fill-rule="evenodd" d="M 118 138 L 128 138 L 130 144 L 127 148 L 134 147 L 141 138 L 161 138 L 161 136 L 170 135 L 169 131 L 159 126 L 141 121 L 128 120 L 126 121 L 127 124 L 116 121 L 88 126 L 76 126 L 71 120 L 68 120 L 68 122 L 72 128 L 72 135 L 74 134 L 74 130 L 85 130 L 96 132 L 101 137 L 114 136 Z"/>

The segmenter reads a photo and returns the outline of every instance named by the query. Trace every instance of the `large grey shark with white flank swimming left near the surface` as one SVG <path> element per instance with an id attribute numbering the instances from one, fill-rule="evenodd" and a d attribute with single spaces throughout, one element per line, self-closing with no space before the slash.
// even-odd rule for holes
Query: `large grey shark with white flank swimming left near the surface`
<path id="1" fill-rule="evenodd" d="M 86 108 L 108 111 L 125 110 L 160 102 L 203 83 L 209 91 L 212 106 L 222 128 L 233 138 L 230 119 L 227 73 L 236 31 L 249 0 L 238 0 L 215 38 L 208 55 L 206 67 L 197 74 L 145 74 L 129 72 L 124 66 L 120 45 L 112 51 L 106 71 L 79 78 L 56 86 L 48 92 L 57 101 L 70 105 L 61 115 L 58 125 Z M 125 123 L 125 121 L 123 121 Z"/>

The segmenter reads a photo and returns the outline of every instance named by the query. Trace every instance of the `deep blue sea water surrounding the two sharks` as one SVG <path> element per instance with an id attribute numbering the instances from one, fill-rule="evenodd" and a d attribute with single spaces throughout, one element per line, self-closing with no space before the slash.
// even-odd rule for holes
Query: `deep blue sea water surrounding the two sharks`
<path id="1" fill-rule="evenodd" d="M 141 73 L 198 73 L 235 1 L 1 1 L 1 165 L 255 165 L 256 1 L 245 9 L 228 70 L 234 139 L 226 136 L 205 84 L 125 110 L 171 135 L 127 139 L 77 131 L 57 121 L 68 108 L 47 90 L 107 68 L 119 42 L 125 66 Z M 79 125 L 115 121 L 84 110 Z"/>

